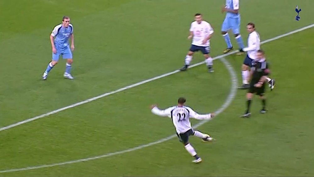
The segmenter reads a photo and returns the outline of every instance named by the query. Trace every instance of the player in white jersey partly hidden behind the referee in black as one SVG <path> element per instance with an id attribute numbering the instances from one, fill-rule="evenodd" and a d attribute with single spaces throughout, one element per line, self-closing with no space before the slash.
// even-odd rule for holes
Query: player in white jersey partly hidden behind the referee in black
<path id="1" fill-rule="evenodd" d="M 261 40 L 259 34 L 255 30 L 254 23 L 248 23 L 246 25 L 246 30 L 249 32 L 247 38 L 247 47 L 240 50 L 240 52 L 247 52 L 246 58 L 242 64 L 242 85 L 238 87 L 239 89 L 248 89 L 249 88 L 249 76 L 250 68 L 252 67 L 252 61 L 257 59 L 257 51 L 261 48 Z M 267 77 L 269 87 L 273 90 L 275 81 Z"/>

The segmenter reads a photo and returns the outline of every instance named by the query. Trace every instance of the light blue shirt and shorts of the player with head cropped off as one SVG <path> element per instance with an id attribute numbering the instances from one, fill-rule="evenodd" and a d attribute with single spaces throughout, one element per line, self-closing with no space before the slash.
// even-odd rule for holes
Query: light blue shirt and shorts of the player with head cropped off
<path id="1" fill-rule="evenodd" d="M 239 9 L 239 0 L 226 0 L 226 8 L 232 10 Z M 225 20 L 222 24 L 221 31 L 227 32 L 228 30 L 232 30 L 234 34 L 240 33 L 240 13 L 234 14 L 231 12 L 226 12 Z"/>

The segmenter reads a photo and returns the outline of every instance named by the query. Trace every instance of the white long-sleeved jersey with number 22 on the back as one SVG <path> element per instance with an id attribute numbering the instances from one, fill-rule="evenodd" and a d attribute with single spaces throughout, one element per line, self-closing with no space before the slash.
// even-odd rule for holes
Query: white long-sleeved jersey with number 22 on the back
<path id="1" fill-rule="evenodd" d="M 192 129 L 190 118 L 198 120 L 211 118 L 211 114 L 198 114 L 187 106 L 173 106 L 165 110 L 154 107 L 152 113 L 162 117 L 170 117 L 178 134 L 185 133 L 187 130 Z"/>

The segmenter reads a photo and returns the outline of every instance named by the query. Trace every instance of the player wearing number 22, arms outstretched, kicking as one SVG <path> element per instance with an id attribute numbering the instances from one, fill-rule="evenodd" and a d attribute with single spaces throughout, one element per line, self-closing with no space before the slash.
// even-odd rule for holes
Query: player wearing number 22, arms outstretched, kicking
<path id="1" fill-rule="evenodd" d="M 192 108 L 185 106 L 186 99 L 180 97 L 178 99 L 178 105 L 172 106 L 165 110 L 160 110 L 156 105 L 152 105 L 152 113 L 162 116 L 162 117 L 170 117 L 172 119 L 172 123 L 176 128 L 176 134 L 179 137 L 180 141 L 183 143 L 187 152 L 189 152 L 195 160 L 192 162 L 200 163 L 202 159 L 198 157 L 195 152 L 194 147 L 189 143 L 189 136 L 194 135 L 199 138 L 202 138 L 204 142 L 210 142 L 214 139 L 207 134 L 203 134 L 200 131 L 196 131 L 192 129 L 190 118 L 203 120 L 203 119 L 211 119 L 214 117 L 214 113 L 209 114 L 198 114 Z"/>

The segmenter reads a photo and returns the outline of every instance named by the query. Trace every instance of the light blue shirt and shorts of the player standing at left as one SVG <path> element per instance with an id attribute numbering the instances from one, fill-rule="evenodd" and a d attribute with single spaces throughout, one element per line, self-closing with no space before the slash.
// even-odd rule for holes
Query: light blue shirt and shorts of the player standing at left
<path id="1" fill-rule="evenodd" d="M 72 52 L 69 47 L 69 37 L 73 34 L 73 25 L 63 27 L 62 24 L 57 25 L 52 30 L 51 36 L 55 37 L 54 44 L 57 53 L 52 53 L 52 60 L 59 60 L 60 55 L 64 59 L 72 59 Z"/>

